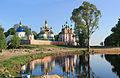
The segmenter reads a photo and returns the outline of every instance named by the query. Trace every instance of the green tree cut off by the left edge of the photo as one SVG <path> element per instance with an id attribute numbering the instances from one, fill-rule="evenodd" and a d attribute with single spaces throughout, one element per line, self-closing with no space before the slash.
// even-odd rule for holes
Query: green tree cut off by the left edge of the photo
<path id="1" fill-rule="evenodd" d="M 2 28 L 2 26 L 0 26 L 0 49 L 7 48 L 6 38 L 3 32 L 4 32 L 4 29 Z"/>

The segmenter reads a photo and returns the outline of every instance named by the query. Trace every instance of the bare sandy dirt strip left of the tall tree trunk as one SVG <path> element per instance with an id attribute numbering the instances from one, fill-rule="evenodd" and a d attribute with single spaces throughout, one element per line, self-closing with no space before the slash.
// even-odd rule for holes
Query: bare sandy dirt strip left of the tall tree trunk
<path id="1" fill-rule="evenodd" d="M 10 49 L 10 50 L 3 50 L 0 53 L 0 61 L 4 61 L 11 57 L 15 56 L 24 56 L 36 53 L 55 53 L 55 54 L 70 54 L 70 53 L 81 53 L 81 50 L 72 50 L 72 49 L 59 49 L 59 48 L 44 48 L 44 49 Z"/>

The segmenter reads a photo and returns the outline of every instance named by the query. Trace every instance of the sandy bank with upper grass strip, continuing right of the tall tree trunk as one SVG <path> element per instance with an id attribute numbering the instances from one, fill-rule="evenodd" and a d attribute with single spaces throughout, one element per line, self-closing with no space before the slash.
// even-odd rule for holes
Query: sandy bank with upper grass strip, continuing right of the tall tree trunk
<path id="1" fill-rule="evenodd" d="M 75 48 L 66 46 L 43 46 L 43 45 L 22 45 L 19 49 L 2 50 L 0 53 L 0 61 L 4 61 L 14 56 L 24 56 L 35 53 L 52 53 L 52 54 L 73 54 L 73 53 L 86 53 L 86 48 Z M 91 48 L 91 54 L 120 54 L 120 48 Z"/>

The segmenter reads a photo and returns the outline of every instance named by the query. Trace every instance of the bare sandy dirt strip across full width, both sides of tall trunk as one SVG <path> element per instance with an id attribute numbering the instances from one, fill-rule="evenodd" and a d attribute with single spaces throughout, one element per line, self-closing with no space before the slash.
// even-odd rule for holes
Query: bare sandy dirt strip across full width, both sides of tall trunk
<path id="1" fill-rule="evenodd" d="M 0 53 L 0 61 L 9 59 L 14 56 L 24 56 L 35 53 L 57 53 L 57 54 L 73 54 L 83 53 L 86 49 L 61 49 L 61 48 L 44 48 L 44 49 L 10 49 L 3 50 Z M 120 54 L 120 48 L 108 48 L 108 49 L 91 49 L 91 54 Z"/>

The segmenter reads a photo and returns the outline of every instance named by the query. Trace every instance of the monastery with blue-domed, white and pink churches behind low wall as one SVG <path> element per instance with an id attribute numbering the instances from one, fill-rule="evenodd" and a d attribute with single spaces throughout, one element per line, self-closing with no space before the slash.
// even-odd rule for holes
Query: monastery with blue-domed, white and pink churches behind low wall
<path id="1" fill-rule="evenodd" d="M 45 27 L 40 28 L 39 40 L 34 39 L 31 27 L 29 28 L 29 33 L 25 34 L 25 29 L 22 27 L 21 19 L 19 27 L 16 29 L 16 35 L 21 39 L 21 44 L 34 44 L 34 45 L 70 45 L 75 46 L 75 34 L 73 34 L 72 25 L 69 27 L 68 23 L 62 26 L 62 30 L 59 33 L 58 41 L 54 39 L 54 32 L 52 31 L 52 26 L 47 27 L 47 20 L 45 21 Z M 10 42 L 12 35 L 9 35 L 7 42 Z"/>

